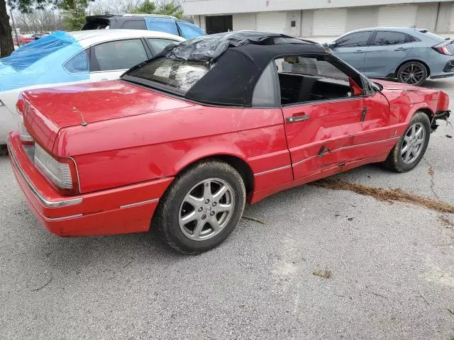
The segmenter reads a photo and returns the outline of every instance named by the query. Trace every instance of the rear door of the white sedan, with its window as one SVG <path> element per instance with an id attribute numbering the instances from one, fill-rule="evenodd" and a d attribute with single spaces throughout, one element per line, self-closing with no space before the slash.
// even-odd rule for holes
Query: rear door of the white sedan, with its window
<path id="1" fill-rule="evenodd" d="M 117 79 L 123 72 L 150 57 L 148 47 L 140 38 L 102 42 L 90 50 L 90 79 Z"/>

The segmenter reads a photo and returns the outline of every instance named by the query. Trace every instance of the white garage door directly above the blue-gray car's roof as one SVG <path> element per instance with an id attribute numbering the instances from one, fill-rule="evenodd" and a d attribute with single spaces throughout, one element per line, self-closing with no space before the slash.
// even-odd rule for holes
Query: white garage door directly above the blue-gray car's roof
<path id="1" fill-rule="evenodd" d="M 416 5 L 382 6 L 378 8 L 377 26 L 413 26 L 416 25 L 416 13 Z"/>

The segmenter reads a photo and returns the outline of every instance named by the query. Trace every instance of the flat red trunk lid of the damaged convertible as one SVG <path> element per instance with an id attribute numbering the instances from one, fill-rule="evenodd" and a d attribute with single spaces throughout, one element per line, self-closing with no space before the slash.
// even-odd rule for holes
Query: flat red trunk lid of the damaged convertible
<path id="1" fill-rule="evenodd" d="M 62 128 L 194 105 L 121 80 L 25 91 L 23 101 L 27 130 L 49 150 Z"/>

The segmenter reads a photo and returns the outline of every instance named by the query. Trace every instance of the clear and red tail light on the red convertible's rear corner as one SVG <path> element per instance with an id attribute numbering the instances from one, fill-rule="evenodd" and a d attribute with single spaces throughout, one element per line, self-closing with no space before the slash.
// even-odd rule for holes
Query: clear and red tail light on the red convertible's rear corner
<path id="1" fill-rule="evenodd" d="M 55 186 L 62 195 L 79 193 L 77 167 L 72 158 L 55 159 L 35 143 L 34 163 L 36 168 Z"/>

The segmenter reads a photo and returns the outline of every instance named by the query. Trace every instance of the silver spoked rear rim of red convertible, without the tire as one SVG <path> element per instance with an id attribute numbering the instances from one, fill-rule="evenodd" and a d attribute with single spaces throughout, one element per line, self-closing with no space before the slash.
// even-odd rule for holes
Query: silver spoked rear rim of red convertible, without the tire
<path id="1" fill-rule="evenodd" d="M 179 208 L 179 227 L 194 241 L 214 237 L 231 220 L 235 193 L 223 179 L 206 179 L 184 196 Z"/>

